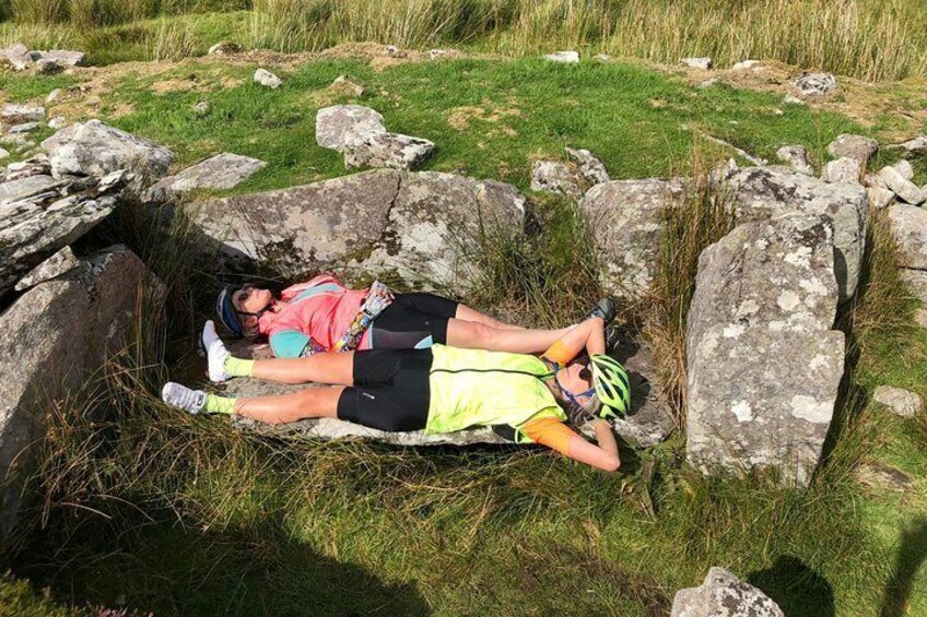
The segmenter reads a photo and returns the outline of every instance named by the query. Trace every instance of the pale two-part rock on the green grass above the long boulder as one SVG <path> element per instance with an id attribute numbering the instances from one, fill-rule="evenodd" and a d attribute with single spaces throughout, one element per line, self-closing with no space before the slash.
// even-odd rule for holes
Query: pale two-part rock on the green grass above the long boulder
<path id="1" fill-rule="evenodd" d="M 344 154 L 344 166 L 414 169 L 434 152 L 421 138 L 389 133 L 383 116 L 361 105 L 335 105 L 316 115 L 316 143 Z"/>

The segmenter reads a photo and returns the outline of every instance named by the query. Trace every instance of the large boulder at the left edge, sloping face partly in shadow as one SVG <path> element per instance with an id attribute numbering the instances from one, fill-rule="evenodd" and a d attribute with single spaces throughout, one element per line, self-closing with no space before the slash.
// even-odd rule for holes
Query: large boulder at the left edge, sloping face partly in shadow
<path id="1" fill-rule="evenodd" d="M 73 394 L 133 328 L 138 289 L 160 283 L 129 249 L 110 247 L 26 292 L 0 315 L 0 536 L 20 509 L 28 447 L 42 436 L 54 401 Z"/>

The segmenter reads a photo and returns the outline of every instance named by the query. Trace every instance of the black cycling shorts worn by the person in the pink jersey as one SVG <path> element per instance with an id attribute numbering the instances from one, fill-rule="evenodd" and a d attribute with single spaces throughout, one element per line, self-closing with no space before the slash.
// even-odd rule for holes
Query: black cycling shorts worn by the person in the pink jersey
<path id="1" fill-rule="evenodd" d="M 371 325 L 373 349 L 421 349 L 447 343 L 457 302 L 434 294 L 397 294 Z"/>

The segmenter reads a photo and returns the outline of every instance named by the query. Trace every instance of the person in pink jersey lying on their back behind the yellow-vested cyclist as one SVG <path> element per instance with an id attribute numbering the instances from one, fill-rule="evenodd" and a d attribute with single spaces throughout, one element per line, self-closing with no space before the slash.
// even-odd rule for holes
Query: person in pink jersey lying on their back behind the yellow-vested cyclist
<path id="1" fill-rule="evenodd" d="M 216 312 L 236 336 L 266 336 L 280 358 L 433 344 L 538 354 L 566 332 L 504 323 L 434 294 L 394 295 L 379 282 L 368 289 L 350 289 L 331 274 L 288 287 L 279 297 L 250 284 L 226 287 L 219 295 Z M 606 298 L 588 317 L 610 321 L 613 316 L 613 302 Z"/>

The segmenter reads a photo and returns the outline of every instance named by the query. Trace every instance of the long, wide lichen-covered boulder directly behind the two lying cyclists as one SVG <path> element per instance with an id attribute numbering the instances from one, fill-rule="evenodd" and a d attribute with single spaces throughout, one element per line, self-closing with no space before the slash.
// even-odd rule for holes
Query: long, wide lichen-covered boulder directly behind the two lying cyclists
<path id="1" fill-rule="evenodd" d="M 260 260 L 290 276 L 351 264 L 434 287 L 476 272 L 481 233 L 519 237 L 525 203 L 503 182 L 374 170 L 185 209 L 231 264 Z"/>

